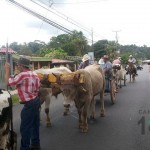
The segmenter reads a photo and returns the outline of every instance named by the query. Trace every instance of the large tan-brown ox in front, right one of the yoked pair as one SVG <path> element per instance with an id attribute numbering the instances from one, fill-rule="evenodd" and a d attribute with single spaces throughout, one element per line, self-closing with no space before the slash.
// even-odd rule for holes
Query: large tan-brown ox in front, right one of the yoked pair
<path id="1" fill-rule="evenodd" d="M 100 94 L 101 116 L 105 115 L 103 99 L 105 80 L 102 69 L 99 65 L 90 65 L 74 73 L 55 74 L 55 76 L 66 98 L 75 102 L 79 115 L 79 129 L 81 132 L 87 132 L 88 112 L 91 110 L 90 115 L 95 118 L 94 97 L 98 94 Z"/>

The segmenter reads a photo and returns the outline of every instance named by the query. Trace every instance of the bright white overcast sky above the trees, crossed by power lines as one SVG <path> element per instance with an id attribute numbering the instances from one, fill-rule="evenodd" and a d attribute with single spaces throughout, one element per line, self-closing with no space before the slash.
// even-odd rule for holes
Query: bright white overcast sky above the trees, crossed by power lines
<path id="1" fill-rule="evenodd" d="M 31 0 L 16 1 L 70 30 L 83 31 L 89 40 L 92 39 L 92 29 L 94 41 L 116 40 L 115 31 L 118 31 L 118 41 L 122 45 L 150 46 L 150 0 L 53 0 L 49 11 Z M 40 1 L 48 4 L 49 0 Z M 69 22 L 71 19 L 77 21 L 89 32 L 65 19 Z M 7 0 L 0 0 L 0 20 L 0 46 L 7 39 L 9 43 L 34 40 L 47 43 L 52 36 L 63 33 Z"/>

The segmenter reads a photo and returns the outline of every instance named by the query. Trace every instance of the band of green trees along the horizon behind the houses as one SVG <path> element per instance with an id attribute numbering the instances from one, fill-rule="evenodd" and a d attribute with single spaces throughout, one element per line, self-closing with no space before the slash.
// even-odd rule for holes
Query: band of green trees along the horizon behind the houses
<path id="1" fill-rule="evenodd" d="M 116 52 L 120 49 L 120 56 L 124 63 L 127 61 L 130 54 L 138 60 L 150 59 L 150 47 L 147 47 L 146 45 L 118 45 L 115 41 L 98 40 L 90 46 L 83 33 L 76 30 L 73 31 L 73 34 L 61 34 L 52 37 L 47 44 L 36 40 L 34 42 L 23 44 L 13 42 L 9 47 L 20 55 L 49 56 L 55 58 L 56 56 L 61 57 L 63 55 L 83 56 L 89 51 L 93 51 L 95 58 L 99 59 L 104 54 L 108 54 L 111 60 L 119 55 Z"/>

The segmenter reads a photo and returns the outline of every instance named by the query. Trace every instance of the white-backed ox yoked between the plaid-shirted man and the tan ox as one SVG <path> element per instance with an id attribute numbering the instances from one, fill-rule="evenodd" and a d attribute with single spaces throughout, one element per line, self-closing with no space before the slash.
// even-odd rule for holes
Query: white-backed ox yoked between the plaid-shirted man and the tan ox
<path id="1" fill-rule="evenodd" d="M 60 90 L 60 87 L 58 84 L 49 84 L 47 82 L 47 75 L 53 74 L 53 73 L 71 73 L 71 70 L 69 70 L 67 67 L 59 67 L 59 68 L 51 68 L 51 69 L 38 69 L 34 70 L 39 76 L 40 74 L 44 75 L 42 78 L 42 85 L 39 90 L 39 96 L 41 103 L 45 102 L 45 113 L 46 113 L 46 126 L 51 126 L 51 120 L 49 117 L 49 106 L 52 96 L 55 96 L 57 98 L 57 95 L 60 94 L 62 91 Z M 45 81 L 46 79 L 46 81 Z M 66 102 L 66 99 L 64 97 L 64 115 L 67 115 L 69 110 L 69 103 Z"/>

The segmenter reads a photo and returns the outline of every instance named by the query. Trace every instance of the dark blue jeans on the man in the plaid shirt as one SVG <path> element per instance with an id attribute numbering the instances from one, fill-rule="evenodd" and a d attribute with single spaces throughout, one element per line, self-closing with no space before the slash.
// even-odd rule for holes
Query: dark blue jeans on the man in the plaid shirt
<path id="1" fill-rule="evenodd" d="M 21 147 L 20 147 L 20 150 L 30 150 L 30 145 L 40 146 L 39 107 L 40 107 L 40 99 L 38 97 L 24 104 L 24 107 L 21 111 L 21 125 L 20 125 Z"/>

